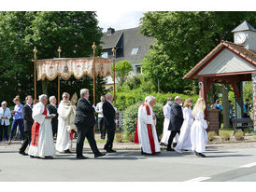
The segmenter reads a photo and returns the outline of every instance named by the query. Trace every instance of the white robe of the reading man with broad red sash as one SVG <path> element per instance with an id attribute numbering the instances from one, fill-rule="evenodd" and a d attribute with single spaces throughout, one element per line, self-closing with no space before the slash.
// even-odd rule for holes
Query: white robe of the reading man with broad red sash
<path id="1" fill-rule="evenodd" d="M 31 142 L 28 150 L 28 155 L 34 157 L 45 158 L 46 156 L 55 156 L 55 148 L 51 130 L 51 119 L 46 119 L 43 115 L 46 106 L 39 102 L 33 107 L 32 117 L 35 123 L 39 123 L 38 140 L 36 145 L 32 145 Z M 50 116 L 49 110 L 47 110 L 47 116 Z"/>

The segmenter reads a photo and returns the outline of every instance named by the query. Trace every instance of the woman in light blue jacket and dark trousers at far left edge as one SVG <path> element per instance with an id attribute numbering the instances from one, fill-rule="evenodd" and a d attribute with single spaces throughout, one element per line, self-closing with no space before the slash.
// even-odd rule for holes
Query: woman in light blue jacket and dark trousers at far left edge
<path id="1" fill-rule="evenodd" d="M 7 102 L 2 102 L 0 107 L 0 142 L 4 141 L 8 142 L 8 126 L 9 126 L 9 119 L 11 117 L 10 110 L 7 108 Z M 3 135 L 4 133 L 4 135 Z"/>

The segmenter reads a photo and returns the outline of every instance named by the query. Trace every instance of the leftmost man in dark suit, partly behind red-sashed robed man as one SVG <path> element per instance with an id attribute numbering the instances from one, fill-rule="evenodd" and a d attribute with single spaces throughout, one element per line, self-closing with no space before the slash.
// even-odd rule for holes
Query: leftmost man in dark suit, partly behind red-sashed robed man
<path id="1" fill-rule="evenodd" d="M 23 123 L 24 123 L 24 133 L 25 133 L 25 140 L 21 145 L 19 153 L 23 156 L 27 156 L 25 150 L 31 142 L 31 128 L 34 123 L 34 119 L 32 118 L 32 103 L 33 98 L 31 95 L 26 97 L 26 104 L 22 108 L 22 116 L 23 116 Z"/>

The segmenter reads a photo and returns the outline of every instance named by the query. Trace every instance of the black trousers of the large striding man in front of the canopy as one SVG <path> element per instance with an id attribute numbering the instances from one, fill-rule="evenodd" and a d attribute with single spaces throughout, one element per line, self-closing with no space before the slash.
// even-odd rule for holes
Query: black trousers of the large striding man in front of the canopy
<path id="1" fill-rule="evenodd" d="M 85 137 L 87 138 L 93 154 L 99 154 L 100 151 L 97 147 L 96 141 L 94 139 L 93 127 L 85 127 L 83 125 L 76 125 L 78 128 L 78 139 L 77 139 L 77 157 L 82 156 L 82 149 Z"/>

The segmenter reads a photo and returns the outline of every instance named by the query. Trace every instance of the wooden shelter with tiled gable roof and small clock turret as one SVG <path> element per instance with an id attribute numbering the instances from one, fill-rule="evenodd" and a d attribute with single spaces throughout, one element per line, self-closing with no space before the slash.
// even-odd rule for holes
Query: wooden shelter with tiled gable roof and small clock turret
<path id="1" fill-rule="evenodd" d="M 235 43 L 221 41 L 183 78 L 198 79 L 200 96 L 212 83 L 230 83 L 235 91 L 235 117 L 243 114 L 243 81 L 253 83 L 253 110 L 256 112 L 256 30 L 247 21 L 233 30 Z M 256 132 L 256 113 L 254 114 Z"/>

